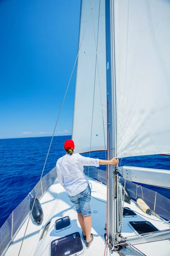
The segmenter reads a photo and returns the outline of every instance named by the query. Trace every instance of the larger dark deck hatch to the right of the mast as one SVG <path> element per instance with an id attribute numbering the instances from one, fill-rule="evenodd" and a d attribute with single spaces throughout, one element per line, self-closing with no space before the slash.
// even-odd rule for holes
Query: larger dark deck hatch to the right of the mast
<path id="1" fill-rule="evenodd" d="M 129 221 L 129 224 L 133 227 L 133 230 L 136 231 L 139 235 L 159 231 L 149 221 Z"/>

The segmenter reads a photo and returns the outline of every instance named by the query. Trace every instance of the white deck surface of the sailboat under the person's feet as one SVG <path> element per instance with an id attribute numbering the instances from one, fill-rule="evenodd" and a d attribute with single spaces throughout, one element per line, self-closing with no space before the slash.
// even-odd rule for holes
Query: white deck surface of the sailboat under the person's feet
<path id="1" fill-rule="evenodd" d="M 87 250 L 85 248 L 84 242 L 84 253 L 82 255 L 92 256 L 92 255 L 104 255 L 105 250 L 105 222 L 106 222 L 106 186 L 102 185 L 99 182 L 90 180 L 92 187 L 92 198 L 91 198 L 91 212 L 92 212 L 92 233 L 94 234 L 94 241 L 91 244 L 91 247 Z M 101 201 L 99 201 L 99 200 Z M 51 241 L 69 235 L 74 232 L 79 232 L 82 236 L 82 230 L 80 228 L 79 222 L 77 220 L 77 212 L 75 207 L 70 209 L 73 204 L 66 195 L 65 190 L 60 186 L 58 181 L 56 181 L 45 193 L 41 199 L 41 205 L 44 212 L 44 219 L 41 226 L 35 224 L 35 222 L 30 219 L 28 224 L 28 229 L 26 231 L 26 236 L 23 242 L 23 246 L 20 252 L 20 256 L 49 256 L 50 255 L 50 246 Z M 123 236 L 133 236 L 135 233 L 128 225 L 129 221 L 150 221 L 155 227 L 159 230 L 165 230 L 169 228 L 168 224 L 164 224 L 163 221 L 158 221 L 159 219 L 155 216 L 148 216 L 145 214 L 135 203 L 130 205 L 125 203 L 124 207 L 130 207 L 130 209 L 135 210 L 136 212 L 141 213 L 145 217 L 138 215 L 137 217 L 123 218 Z M 69 216 L 71 218 L 72 226 L 62 232 L 56 233 L 54 230 L 54 223 L 57 218 L 62 216 Z M 149 219 L 151 218 L 151 219 Z M 42 231 L 45 227 L 45 224 L 51 220 L 48 233 L 45 235 L 44 239 L 40 240 Z M 27 220 L 28 221 L 28 220 Z M 6 256 L 18 256 L 20 245 L 22 242 L 23 234 L 26 229 L 26 223 L 20 229 L 19 233 L 14 239 L 13 244 L 10 245 L 6 252 Z M 144 255 L 147 256 L 170 256 L 170 241 L 159 241 L 152 242 L 148 244 L 139 244 L 135 246 L 136 249 L 139 249 Z M 125 250 L 123 250 L 125 253 Z M 122 252 L 123 252 L 122 251 Z M 113 253 L 117 255 L 117 253 Z M 127 252 L 125 255 L 139 255 Z"/>

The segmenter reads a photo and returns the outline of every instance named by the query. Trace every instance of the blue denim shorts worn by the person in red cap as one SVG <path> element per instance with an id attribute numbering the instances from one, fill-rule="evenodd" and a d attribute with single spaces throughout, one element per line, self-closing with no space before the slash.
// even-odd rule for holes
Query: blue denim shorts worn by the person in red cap
<path id="1" fill-rule="evenodd" d="M 80 192 L 77 195 L 69 196 L 72 203 L 74 203 L 77 213 L 82 213 L 83 216 L 91 215 L 91 188 L 90 185 L 86 187 L 85 190 Z"/>

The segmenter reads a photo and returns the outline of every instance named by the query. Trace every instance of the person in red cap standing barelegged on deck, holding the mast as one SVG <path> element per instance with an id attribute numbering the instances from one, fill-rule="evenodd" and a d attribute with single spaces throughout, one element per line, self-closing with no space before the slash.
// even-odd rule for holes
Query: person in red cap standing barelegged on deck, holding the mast
<path id="1" fill-rule="evenodd" d="M 56 164 L 58 180 L 76 207 L 85 246 L 89 248 L 93 241 L 93 234 L 91 234 L 91 188 L 87 177 L 84 175 L 83 166 L 116 165 L 119 160 L 117 157 L 113 157 L 112 160 L 101 160 L 73 154 L 73 140 L 66 140 L 64 149 L 66 151 L 65 156 L 60 157 Z"/>

